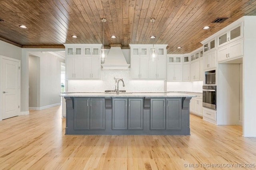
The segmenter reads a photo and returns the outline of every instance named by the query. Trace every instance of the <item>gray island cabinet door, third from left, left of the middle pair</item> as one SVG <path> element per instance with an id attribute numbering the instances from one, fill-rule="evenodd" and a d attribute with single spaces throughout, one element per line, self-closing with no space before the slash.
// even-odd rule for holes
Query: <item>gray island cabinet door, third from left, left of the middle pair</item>
<path id="1" fill-rule="evenodd" d="M 112 100 L 112 129 L 128 129 L 127 98 L 113 98 Z"/>

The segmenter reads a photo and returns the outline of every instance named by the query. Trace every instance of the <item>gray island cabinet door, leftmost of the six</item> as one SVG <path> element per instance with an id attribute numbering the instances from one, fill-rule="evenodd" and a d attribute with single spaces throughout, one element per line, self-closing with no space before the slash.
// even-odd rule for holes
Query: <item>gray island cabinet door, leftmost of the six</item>
<path id="1" fill-rule="evenodd" d="M 89 98 L 74 98 L 74 129 L 89 129 Z"/>

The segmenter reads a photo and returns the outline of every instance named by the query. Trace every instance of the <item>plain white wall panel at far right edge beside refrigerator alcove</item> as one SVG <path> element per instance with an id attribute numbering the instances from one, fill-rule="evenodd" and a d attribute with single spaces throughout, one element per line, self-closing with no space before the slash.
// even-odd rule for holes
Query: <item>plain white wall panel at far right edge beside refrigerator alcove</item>
<path id="1" fill-rule="evenodd" d="M 243 135 L 256 137 L 256 16 L 244 16 Z"/>

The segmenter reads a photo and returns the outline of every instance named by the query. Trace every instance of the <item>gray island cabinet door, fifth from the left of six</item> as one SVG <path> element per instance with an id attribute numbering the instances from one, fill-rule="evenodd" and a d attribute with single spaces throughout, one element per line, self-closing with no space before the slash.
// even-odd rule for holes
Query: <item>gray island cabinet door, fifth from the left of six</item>
<path id="1" fill-rule="evenodd" d="M 151 99 L 150 101 L 150 130 L 165 130 L 166 106 L 165 99 Z"/>

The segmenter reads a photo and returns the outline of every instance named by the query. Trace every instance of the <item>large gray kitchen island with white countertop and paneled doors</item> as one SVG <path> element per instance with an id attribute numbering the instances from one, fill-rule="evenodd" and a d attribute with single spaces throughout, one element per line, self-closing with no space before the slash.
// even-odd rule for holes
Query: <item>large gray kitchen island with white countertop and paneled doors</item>
<path id="1" fill-rule="evenodd" d="M 66 135 L 190 135 L 189 103 L 181 93 L 71 93 Z"/>

